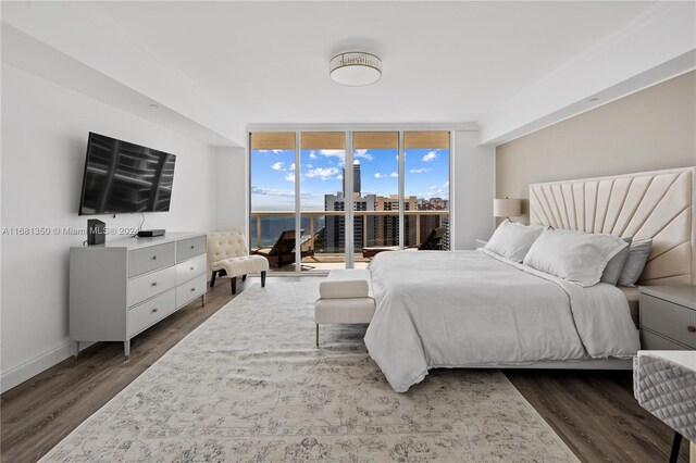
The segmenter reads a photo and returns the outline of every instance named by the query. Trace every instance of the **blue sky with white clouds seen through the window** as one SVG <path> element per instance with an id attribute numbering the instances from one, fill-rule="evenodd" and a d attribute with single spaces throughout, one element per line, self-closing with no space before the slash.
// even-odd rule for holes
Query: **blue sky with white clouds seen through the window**
<path id="1" fill-rule="evenodd" d="M 362 193 L 381 196 L 398 192 L 396 149 L 356 150 L 360 163 Z M 324 195 L 343 189 L 343 150 L 300 152 L 300 201 L 306 211 L 323 211 Z M 406 150 L 406 195 L 419 198 L 449 198 L 449 150 Z M 295 151 L 251 151 L 251 210 L 295 209 Z"/>

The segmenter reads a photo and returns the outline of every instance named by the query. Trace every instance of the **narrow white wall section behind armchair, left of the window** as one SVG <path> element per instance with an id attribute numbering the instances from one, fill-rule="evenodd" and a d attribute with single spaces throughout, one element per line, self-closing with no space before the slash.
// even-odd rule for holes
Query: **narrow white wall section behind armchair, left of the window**
<path id="1" fill-rule="evenodd" d="M 215 229 L 247 234 L 247 153 L 244 148 L 215 150 Z M 249 237 L 247 237 L 247 240 Z"/>

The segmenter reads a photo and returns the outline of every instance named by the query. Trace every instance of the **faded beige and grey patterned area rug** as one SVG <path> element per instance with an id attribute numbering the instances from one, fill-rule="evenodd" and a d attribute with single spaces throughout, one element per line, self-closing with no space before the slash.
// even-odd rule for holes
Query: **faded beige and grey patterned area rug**
<path id="1" fill-rule="evenodd" d="M 250 286 L 44 461 L 576 461 L 500 372 L 396 393 L 364 326 L 322 327 L 315 349 L 319 281 Z"/>

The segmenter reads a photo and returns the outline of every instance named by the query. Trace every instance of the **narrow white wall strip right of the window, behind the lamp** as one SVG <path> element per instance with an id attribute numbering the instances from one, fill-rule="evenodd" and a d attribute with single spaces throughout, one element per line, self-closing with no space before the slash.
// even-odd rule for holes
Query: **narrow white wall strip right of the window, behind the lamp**
<path id="1" fill-rule="evenodd" d="M 478 146 L 477 132 L 455 133 L 455 247 L 474 249 L 495 228 L 495 148 Z"/>

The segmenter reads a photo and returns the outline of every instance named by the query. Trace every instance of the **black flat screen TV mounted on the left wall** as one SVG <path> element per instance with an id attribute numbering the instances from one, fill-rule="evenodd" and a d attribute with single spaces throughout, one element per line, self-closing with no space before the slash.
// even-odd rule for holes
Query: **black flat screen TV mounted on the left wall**
<path id="1" fill-rule="evenodd" d="M 170 210 L 176 155 L 89 133 L 79 215 Z"/>

